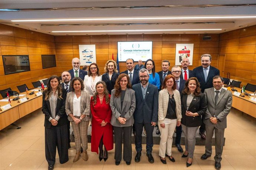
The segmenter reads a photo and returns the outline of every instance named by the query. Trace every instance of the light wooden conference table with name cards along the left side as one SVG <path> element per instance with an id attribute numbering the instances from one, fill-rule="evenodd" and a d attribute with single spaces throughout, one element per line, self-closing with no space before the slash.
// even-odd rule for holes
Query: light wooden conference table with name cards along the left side
<path id="1" fill-rule="evenodd" d="M 29 92 L 32 92 L 32 90 L 30 90 Z M 35 93 L 36 92 L 37 91 L 35 91 Z M 20 94 L 26 94 L 26 92 L 23 92 Z M 15 97 L 16 96 L 10 96 L 10 99 L 13 99 Z M 20 98 L 24 98 L 24 97 L 26 96 L 20 96 Z M 11 105 L 12 105 L 11 108 L 4 111 L 0 111 L 0 130 L 9 126 L 10 124 L 22 118 L 23 116 L 26 116 L 29 113 L 32 113 L 33 111 L 42 107 L 42 102 L 43 102 L 42 96 L 36 96 L 35 94 L 33 94 L 33 95 L 28 95 L 27 97 L 29 99 L 26 102 L 20 103 L 19 101 L 11 101 Z M 0 102 L 1 106 L 7 105 L 7 104 L 8 102 Z"/>

